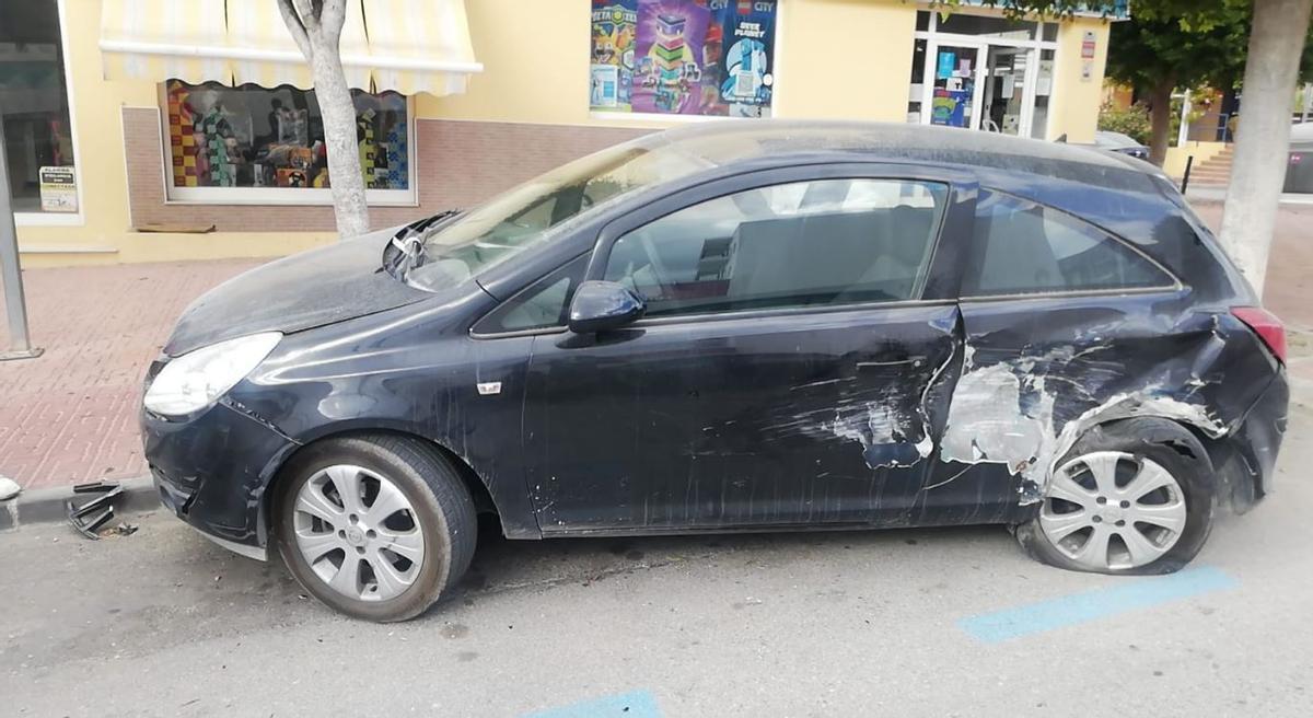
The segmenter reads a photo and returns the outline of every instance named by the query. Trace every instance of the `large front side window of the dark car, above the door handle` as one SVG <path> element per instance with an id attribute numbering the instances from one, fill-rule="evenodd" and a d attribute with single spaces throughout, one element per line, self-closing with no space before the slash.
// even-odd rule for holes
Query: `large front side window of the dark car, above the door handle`
<path id="1" fill-rule="evenodd" d="M 913 299 L 948 188 L 817 180 L 685 207 L 618 238 L 605 278 L 649 316 Z"/>

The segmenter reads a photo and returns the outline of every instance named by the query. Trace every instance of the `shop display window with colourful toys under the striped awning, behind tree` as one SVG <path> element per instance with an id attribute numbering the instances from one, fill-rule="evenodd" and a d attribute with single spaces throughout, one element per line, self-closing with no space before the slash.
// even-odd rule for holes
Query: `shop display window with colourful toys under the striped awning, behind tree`
<path id="1" fill-rule="evenodd" d="M 328 201 L 332 179 L 314 91 L 171 80 L 164 92 L 171 200 L 227 202 L 285 193 L 301 202 L 318 189 Z M 370 202 L 411 201 L 407 98 L 361 91 L 352 91 L 352 97 Z M 251 190 L 260 192 L 251 196 Z"/>

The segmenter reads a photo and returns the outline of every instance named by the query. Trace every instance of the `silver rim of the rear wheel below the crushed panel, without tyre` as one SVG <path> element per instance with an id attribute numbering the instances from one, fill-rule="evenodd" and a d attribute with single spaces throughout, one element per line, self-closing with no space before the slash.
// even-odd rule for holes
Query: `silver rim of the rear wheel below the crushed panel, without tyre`
<path id="1" fill-rule="evenodd" d="M 1125 452 L 1092 452 L 1053 473 L 1040 528 L 1085 568 L 1137 568 L 1162 558 L 1186 528 L 1186 497 L 1170 471 Z"/>

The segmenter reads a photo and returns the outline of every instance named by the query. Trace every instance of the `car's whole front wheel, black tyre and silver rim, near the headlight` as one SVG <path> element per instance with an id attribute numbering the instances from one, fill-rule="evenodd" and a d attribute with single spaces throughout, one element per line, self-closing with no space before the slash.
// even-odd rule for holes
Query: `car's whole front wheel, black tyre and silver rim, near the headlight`
<path id="1" fill-rule="evenodd" d="M 288 570 L 344 614 L 414 618 L 457 584 L 474 555 L 474 503 L 457 467 L 423 441 L 379 434 L 312 444 L 276 488 L 274 538 Z"/>

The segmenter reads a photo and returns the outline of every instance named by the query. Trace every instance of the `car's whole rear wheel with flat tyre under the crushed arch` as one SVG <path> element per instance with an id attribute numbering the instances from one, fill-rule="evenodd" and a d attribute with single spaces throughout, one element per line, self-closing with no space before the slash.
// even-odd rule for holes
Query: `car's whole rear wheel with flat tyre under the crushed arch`
<path id="1" fill-rule="evenodd" d="M 1109 465 L 1111 491 L 1095 476 L 1095 467 L 1107 476 Z M 1134 496 L 1158 483 L 1165 486 Z M 1057 462 L 1037 516 L 1016 526 L 1016 537 L 1032 558 L 1060 568 L 1171 574 L 1208 539 L 1216 492 L 1208 453 L 1184 427 L 1154 417 L 1113 421 L 1091 428 Z M 1096 536 L 1108 537 L 1103 560 L 1102 541 L 1085 543 Z"/>

